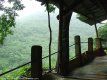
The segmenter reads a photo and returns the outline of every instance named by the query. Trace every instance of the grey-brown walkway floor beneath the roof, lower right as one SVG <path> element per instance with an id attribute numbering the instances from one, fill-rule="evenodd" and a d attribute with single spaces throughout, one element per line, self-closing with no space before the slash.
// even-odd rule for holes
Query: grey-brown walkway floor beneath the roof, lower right
<path id="1" fill-rule="evenodd" d="M 107 56 L 97 57 L 86 66 L 80 67 L 63 78 L 53 74 L 54 79 L 46 80 L 107 80 Z"/>

